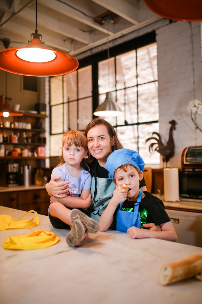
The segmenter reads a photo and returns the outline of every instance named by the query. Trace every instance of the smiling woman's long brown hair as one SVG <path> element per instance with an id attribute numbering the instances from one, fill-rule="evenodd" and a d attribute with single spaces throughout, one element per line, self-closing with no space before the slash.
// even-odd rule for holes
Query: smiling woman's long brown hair
<path id="1" fill-rule="evenodd" d="M 118 149 L 122 149 L 123 146 L 120 142 L 120 140 L 118 139 L 118 135 L 116 133 L 116 131 L 114 130 L 114 127 L 108 123 L 108 121 L 106 121 L 103 118 L 95 118 L 93 120 L 91 120 L 90 123 L 88 123 L 88 125 L 86 126 L 85 129 L 85 135 L 87 137 L 88 131 L 91 130 L 93 127 L 98 126 L 98 125 L 104 125 L 107 127 L 107 131 L 108 131 L 108 135 L 110 136 L 110 138 L 114 137 L 114 145 L 111 147 L 112 148 L 112 152 L 114 150 L 118 150 Z M 91 163 L 95 158 L 88 152 L 88 163 Z"/>

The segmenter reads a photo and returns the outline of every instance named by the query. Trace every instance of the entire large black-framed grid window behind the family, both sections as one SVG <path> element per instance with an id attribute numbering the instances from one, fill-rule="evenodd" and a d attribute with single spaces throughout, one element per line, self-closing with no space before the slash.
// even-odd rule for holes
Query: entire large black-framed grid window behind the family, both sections
<path id="1" fill-rule="evenodd" d="M 150 154 L 145 144 L 150 133 L 159 130 L 157 45 L 155 35 L 150 38 L 114 47 L 109 60 L 107 51 L 90 56 L 79 62 L 78 70 L 51 78 L 51 156 L 58 156 L 61 134 L 84 130 L 110 91 L 125 115 L 104 119 L 125 148 L 138 151 L 147 166 L 159 164 L 160 155 Z"/>

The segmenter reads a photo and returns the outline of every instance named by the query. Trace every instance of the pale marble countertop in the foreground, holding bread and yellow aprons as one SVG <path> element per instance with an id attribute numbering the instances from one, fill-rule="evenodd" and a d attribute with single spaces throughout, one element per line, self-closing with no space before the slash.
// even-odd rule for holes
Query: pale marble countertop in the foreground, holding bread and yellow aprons
<path id="1" fill-rule="evenodd" d="M 19 219 L 25 212 L 0 206 L 0 214 Z M 27 216 L 33 217 L 33 213 Z M 202 282 L 190 278 L 167 286 L 157 282 L 162 265 L 202 248 L 157 239 L 132 240 L 108 230 L 88 235 L 81 247 L 70 248 L 68 230 L 51 226 L 39 215 L 34 230 L 53 231 L 60 241 L 37 250 L 0 249 L 1 304 L 199 304 Z M 29 229 L 0 231 L 1 243 Z"/>

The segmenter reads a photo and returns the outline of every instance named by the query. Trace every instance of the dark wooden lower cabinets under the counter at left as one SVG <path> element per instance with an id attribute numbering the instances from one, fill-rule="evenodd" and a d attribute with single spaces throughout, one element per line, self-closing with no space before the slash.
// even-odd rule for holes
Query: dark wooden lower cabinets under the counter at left
<path id="1" fill-rule="evenodd" d="M 34 210 L 47 215 L 50 196 L 46 189 L 0 192 L 0 205 L 4 207 Z"/>

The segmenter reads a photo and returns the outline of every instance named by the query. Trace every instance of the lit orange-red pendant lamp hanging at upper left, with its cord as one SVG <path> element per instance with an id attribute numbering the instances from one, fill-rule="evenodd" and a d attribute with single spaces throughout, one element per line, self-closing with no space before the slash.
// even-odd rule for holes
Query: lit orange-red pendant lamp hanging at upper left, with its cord
<path id="1" fill-rule="evenodd" d="M 37 0 L 36 29 L 28 43 L 26 47 L 0 51 L 0 69 L 26 76 L 57 76 L 78 68 L 78 61 L 73 56 L 43 46 L 42 35 L 37 30 Z"/>

